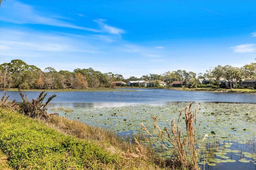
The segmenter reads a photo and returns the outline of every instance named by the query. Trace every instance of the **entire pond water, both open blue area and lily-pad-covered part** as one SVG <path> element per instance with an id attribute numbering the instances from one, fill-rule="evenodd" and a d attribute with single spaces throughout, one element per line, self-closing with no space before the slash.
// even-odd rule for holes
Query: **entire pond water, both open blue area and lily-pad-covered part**
<path id="1" fill-rule="evenodd" d="M 0 91 L 0 96 L 4 92 Z M 40 92 L 24 92 L 36 98 Z M 111 129 L 119 135 L 141 132 L 141 123 L 153 129 L 156 116 L 161 128 L 192 102 L 197 108 L 199 136 L 208 134 L 202 155 L 212 170 L 256 170 L 256 95 L 191 92 L 167 89 L 116 89 L 98 92 L 48 92 L 57 96 L 48 111 L 84 123 Z M 21 102 L 18 92 L 9 100 Z M 184 126 L 183 126 L 184 127 Z M 209 150 L 214 148 L 213 154 Z M 211 156 L 210 156 L 211 155 Z M 198 159 L 203 169 L 204 160 Z"/>

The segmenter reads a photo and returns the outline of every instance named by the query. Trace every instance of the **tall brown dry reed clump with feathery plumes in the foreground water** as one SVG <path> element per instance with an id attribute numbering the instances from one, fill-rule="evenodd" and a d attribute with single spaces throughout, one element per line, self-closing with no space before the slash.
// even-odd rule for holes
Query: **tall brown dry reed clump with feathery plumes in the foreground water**
<path id="1" fill-rule="evenodd" d="M 183 132 L 180 123 L 180 118 L 183 113 L 183 109 L 180 111 L 180 115 L 178 117 L 178 121 L 175 121 L 175 118 L 172 119 L 171 125 L 169 125 L 168 121 L 167 127 L 164 127 L 162 130 L 158 123 L 157 117 L 153 116 L 154 119 L 154 132 L 150 133 L 148 129 L 145 127 L 143 123 L 142 129 L 146 131 L 147 135 L 153 140 L 155 143 L 160 145 L 160 147 L 169 152 L 169 156 L 181 167 L 181 169 L 191 169 L 198 170 L 200 169 L 197 164 L 198 153 L 202 149 L 202 144 L 208 137 L 208 135 L 204 135 L 202 140 L 199 142 L 199 136 L 196 133 L 196 129 L 200 127 L 200 123 L 197 126 L 196 124 L 196 110 L 194 113 L 191 111 L 192 102 L 189 107 L 185 108 L 185 126 L 186 131 Z M 148 140 L 148 142 L 150 142 Z M 152 143 L 152 142 L 150 142 Z"/>

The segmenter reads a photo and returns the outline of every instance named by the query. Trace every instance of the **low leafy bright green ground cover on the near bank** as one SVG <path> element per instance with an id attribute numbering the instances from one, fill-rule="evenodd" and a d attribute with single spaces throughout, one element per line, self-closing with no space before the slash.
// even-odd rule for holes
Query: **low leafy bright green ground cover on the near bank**
<path id="1" fill-rule="evenodd" d="M 14 169 L 105 169 L 118 156 L 43 123 L 0 109 L 0 149 Z"/>

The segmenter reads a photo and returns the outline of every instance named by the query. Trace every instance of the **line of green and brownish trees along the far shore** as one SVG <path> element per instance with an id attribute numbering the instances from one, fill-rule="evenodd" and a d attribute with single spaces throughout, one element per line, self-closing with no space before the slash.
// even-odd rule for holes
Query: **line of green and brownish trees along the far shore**
<path id="1" fill-rule="evenodd" d="M 233 66 L 218 65 L 206 70 L 204 74 L 196 75 L 186 70 L 168 71 L 163 74 L 143 75 L 140 78 L 130 76 L 125 79 L 121 74 L 112 72 L 102 73 L 93 68 L 76 68 L 73 72 L 60 70 L 57 72 L 52 67 L 42 71 L 34 65 L 28 65 L 20 59 L 12 60 L 10 63 L 0 65 L 0 88 L 20 89 L 86 89 L 86 88 L 110 88 L 114 87 L 114 81 L 135 80 L 161 80 L 170 86 L 173 81 L 180 81 L 184 86 L 191 88 L 199 87 L 198 78 L 209 80 L 209 86 L 220 88 L 220 80 L 236 82 L 242 79 L 256 79 L 256 63 L 246 64 L 241 68 Z"/>

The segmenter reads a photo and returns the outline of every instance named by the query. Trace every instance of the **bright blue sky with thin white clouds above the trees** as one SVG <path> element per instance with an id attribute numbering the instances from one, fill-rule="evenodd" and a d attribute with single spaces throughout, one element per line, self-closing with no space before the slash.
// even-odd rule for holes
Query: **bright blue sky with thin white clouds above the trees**
<path id="1" fill-rule="evenodd" d="M 256 58 L 255 0 L 6 0 L 0 64 L 93 68 L 124 78 L 204 73 Z"/>

